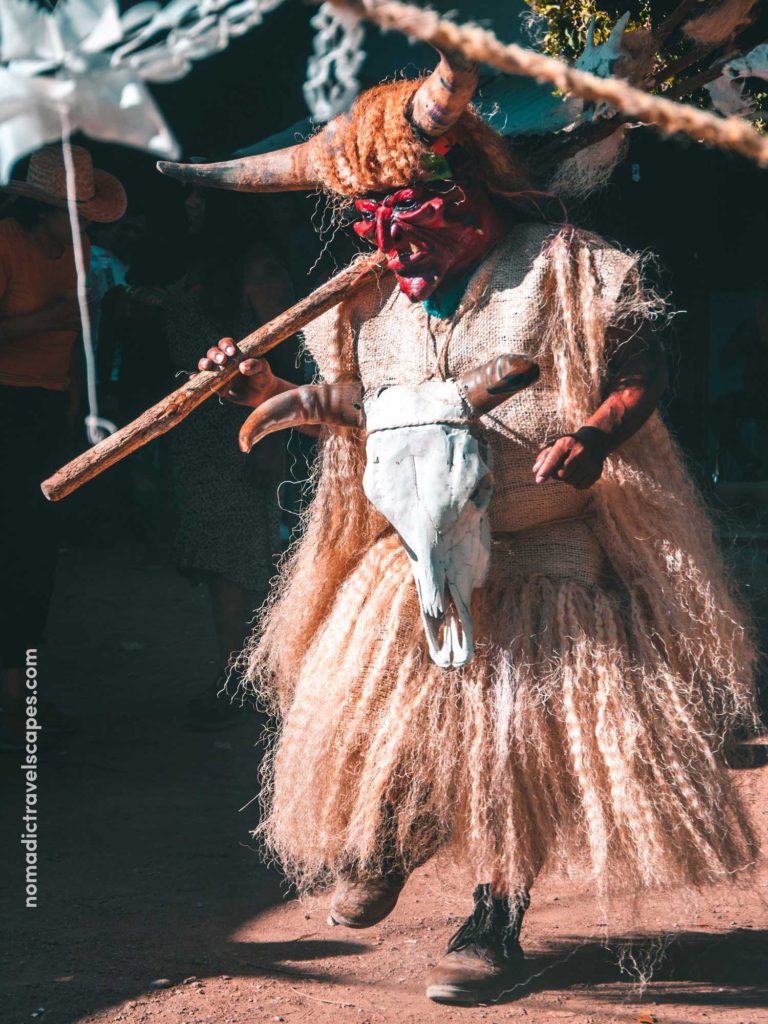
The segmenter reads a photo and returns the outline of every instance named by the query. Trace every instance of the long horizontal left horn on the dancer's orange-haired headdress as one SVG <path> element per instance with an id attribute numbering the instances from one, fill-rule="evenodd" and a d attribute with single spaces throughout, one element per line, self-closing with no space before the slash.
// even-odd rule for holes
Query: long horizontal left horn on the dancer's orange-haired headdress
<path id="1" fill-rule="evenodd" d="M 220 164 L 174 164 L 158 162 L 161 174 L 179 181 L 195 181 L 204 188 L 233 188 L 237 191 L 312 191 L 321 180 L 312 160 L 313 138 L 274 153 L 226 160 Z"/>

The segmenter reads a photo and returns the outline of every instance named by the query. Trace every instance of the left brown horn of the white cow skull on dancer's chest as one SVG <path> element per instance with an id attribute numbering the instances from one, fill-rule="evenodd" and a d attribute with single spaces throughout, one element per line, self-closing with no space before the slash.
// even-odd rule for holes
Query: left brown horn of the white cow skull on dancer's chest
<path id="1" fill-rule="evenodd" d="M 322 424 L 365 426 L 362 385 L 358 381 L 304 384 L 267 398 L 240 428 L 240 450 L 250 452 L 257 441 L 275 430 Z"/>

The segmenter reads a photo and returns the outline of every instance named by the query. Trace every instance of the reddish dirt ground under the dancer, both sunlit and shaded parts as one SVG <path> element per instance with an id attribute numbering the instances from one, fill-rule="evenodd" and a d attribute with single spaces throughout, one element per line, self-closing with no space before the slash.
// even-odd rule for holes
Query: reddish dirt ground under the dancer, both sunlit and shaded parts
<path id="1" fill-rule="evenodd" d="M 215 672 L 202 592 L 135 546 L 79 548 L 62 557 L 49 632 L 42 695 L 81 728 L 43 755 L 37 909 L 15 839 L 19 758 L 0 756 L 3 1024 L 768 1021 L 765 863 L 741 889 L 620 903 L 610 936 L 605 907 L 543 883 L 523 931 L 528 981 L 494 1007 L 428 1002 L 423 977 L 467 886 L 433 862 L 387 922 L 355 933 L 327 925 L 326 898 L 286 897 L 249 838 L 256 717 L 184 726 Z M 768 840 L 768 768 L 737 776 Z"/>

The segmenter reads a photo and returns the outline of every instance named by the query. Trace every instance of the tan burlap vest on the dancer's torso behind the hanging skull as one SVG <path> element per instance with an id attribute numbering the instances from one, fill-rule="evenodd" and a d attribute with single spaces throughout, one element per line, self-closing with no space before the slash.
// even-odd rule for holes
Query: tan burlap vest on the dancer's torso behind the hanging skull
<path id="1" fill-rule="evenodd" d="M 515 225 L 475 271 L 450 319 L 428 315 L 387 276 L 305 329 L 325 380 L 351 370 L 367 389 L 455 377 L 502 352 L 536 355 L 538 383 L 482 420 L 494 455 L 495 534 L 582 517 L 590 501 L 588 492 L 561 483 L 537 485 L 531 473 L 538 452 L 564 430 L 553 360 L 541 351 L 552 233 L 544 224 Z M 632 265 L 633 257 L 607 244 L 598 249 L 596 301 L 614 303 Z"/>

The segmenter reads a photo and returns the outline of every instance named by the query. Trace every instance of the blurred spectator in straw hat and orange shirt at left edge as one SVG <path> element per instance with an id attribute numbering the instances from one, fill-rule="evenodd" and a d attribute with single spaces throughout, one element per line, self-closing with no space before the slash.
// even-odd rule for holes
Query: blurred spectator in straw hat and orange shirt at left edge
<path id="1" fill-rule="evenodd" d="M 83 227 L 117 220 L 126 206 L 123 186 L 94 170 L 87 150 L 72 153 Z M 67 433 L 80 314 L 60 146 L 34 154 L 27 179 L 3 190 L 17 198 L 0 220 L 0 744 L 14 748 L 23 734 L 27 651 L 43 641 L 53 588 L 57 516 L 40 483 L 57 468 Z M 83 247 L 87 266 L 85 234 Z M 67 726 L 50 706 L 41 719 L 48 733 Z"/>

